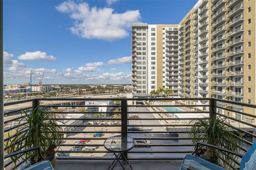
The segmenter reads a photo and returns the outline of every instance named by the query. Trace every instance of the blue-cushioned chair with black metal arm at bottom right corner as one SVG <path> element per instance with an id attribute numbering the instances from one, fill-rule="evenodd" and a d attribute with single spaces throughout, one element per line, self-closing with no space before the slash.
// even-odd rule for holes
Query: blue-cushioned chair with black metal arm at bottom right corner
<path id="1" fill-rule="evenodd" d="M 187 154 L 184 158 L 182 165 L 180 166 L 180 170 L 225 170 L 216 164 L 195 156 L 194 153 L 198 150 L 199 145 L 223 150 L 242 158 L 240 162 L 240 170 L 256 170 L 256 142 L 247 150 L 247 152 L 245 152 L 244 155 L 212 144 L 198 142 L 195 151 L 192 154 Z"/>

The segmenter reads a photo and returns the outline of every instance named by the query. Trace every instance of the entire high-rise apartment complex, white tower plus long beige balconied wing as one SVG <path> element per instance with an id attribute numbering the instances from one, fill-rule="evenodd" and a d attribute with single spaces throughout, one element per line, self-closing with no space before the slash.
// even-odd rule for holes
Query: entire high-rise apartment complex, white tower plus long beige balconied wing
<path id="1" fill-rule="evenodd" d="M 176 97 L 256 104 L 255 8 L 255 0 L 198 0 L 179 24 L 133 24 L 133 94 L 164 87 Z M 238 105 L 217 105 L 255 114 Z M 218 112 L 254 123 L 238 113 Z"/>

